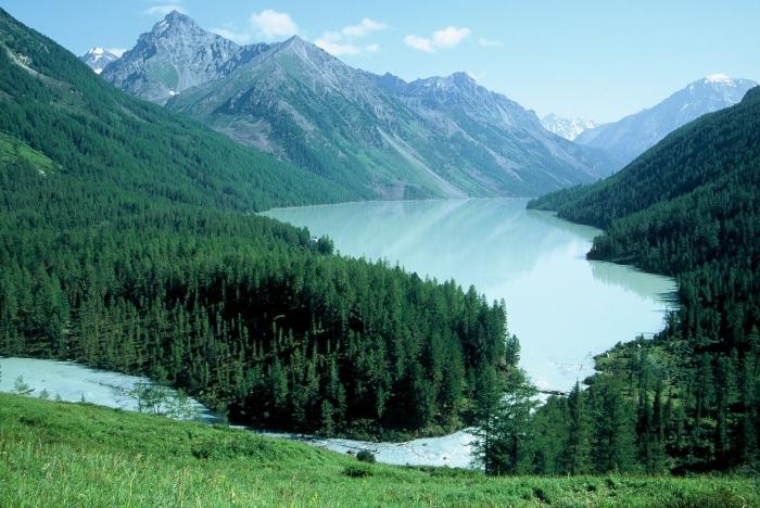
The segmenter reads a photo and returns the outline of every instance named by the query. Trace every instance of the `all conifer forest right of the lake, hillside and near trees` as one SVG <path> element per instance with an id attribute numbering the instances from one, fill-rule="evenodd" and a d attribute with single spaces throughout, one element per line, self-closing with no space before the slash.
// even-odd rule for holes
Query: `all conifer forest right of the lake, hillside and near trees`
<path id="1" fill-rule="evenodd" d="M 597 358 L 586 391 L 536 420 L 546 472 L 758 466 L 760 88 L 669 135 L 619 174 L 529 206 L 604 228 L 588 257 L 677 278 L 654 341 Z M 558 445 L 571 446 L 558 456 Z M 556 448 L 558 449 L 558 448 Z"/>

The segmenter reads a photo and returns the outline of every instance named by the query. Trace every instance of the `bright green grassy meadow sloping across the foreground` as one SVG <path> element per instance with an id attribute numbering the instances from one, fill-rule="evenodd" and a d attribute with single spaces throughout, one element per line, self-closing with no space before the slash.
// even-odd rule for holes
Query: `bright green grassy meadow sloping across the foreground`
<path id="1" fill-rule="evenodd" d="M 740 477 L 486 478 L 0 394 L 0 506 L 760 506 Z"/>

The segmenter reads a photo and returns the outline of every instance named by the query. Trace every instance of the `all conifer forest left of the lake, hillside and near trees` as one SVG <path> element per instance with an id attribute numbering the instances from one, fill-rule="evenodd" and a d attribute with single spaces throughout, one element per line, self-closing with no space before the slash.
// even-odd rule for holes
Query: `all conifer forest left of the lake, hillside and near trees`
<path id="1" fill-rule="evenodd" d="M 254 215 L 353 195 L 131 99 L 0 10 L 0 354 L 185 388 L 240 422 L 467 422 L 506 313 Z"/>

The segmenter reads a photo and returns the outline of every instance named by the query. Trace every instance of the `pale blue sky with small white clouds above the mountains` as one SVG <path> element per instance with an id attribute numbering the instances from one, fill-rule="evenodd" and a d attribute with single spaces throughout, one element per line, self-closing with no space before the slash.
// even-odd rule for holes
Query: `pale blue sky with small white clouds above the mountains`
<path id="1" fill-rule="evenodd" d="M 76 54 L 168 11 L 240 43 L 317 43 L 406 80 L 469 73 L 539 115 L 612 122 L 724 73 L 760 81 L 760 0 L 0 0 Z"/>

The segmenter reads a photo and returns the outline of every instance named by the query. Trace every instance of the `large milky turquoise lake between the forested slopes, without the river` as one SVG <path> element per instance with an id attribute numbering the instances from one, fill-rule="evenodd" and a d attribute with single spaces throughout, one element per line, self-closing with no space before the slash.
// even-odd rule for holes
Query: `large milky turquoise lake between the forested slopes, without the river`
<path id="1" fill-rule="evenodd" d="M 593 356 L 663 328 L 672 279 L 586 261 L 601 231 L 525 209 L 524 199 L 364 202 L 265 215 L 329 236 L 351 256 L 388 259 L 420 276 L 474 284 L 504 299 L 521 365 L 542 390 L 566 391 Z"/>

